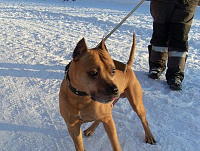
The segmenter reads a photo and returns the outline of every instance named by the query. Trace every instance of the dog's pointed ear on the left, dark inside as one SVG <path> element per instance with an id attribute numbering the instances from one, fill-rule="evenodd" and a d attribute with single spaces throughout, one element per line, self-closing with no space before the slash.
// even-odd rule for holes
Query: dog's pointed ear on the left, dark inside
<path id="1" fill-rule="evenodd" d="M 85 39 L 82 38 L 76 45 L 72 58 L 74 61 L 78 60 L 87 51 L 87 45 Z"/>

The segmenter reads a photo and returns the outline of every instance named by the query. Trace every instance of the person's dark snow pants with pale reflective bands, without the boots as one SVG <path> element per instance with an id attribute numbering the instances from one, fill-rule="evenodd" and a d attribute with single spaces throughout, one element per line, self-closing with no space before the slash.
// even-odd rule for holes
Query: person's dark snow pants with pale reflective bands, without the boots
<path id="1" fill-rule="evenodd" d="M 165 2 L 151 0 L 153 34 L 149 46 L 149 65 L 166 68 L 166 78 L 176 75 L 184 78 L 184 68 L 188 51 L 188 33 L 198 0 L 183 3 L 181 0 Z"/>

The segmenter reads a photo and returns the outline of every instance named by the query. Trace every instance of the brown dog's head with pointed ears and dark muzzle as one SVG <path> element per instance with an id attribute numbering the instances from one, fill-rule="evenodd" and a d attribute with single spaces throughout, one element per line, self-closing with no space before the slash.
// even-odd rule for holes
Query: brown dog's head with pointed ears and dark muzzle
<path id="1" fill-rule="evenodd" d="M 78 89 L 101 103 L 119 97 L 118 88 L 113 83 L 116 68 L 104 40 L 97 48 L 88 49 L 85 39 L 81 39 L 72 57 L 73 82 Z"/>

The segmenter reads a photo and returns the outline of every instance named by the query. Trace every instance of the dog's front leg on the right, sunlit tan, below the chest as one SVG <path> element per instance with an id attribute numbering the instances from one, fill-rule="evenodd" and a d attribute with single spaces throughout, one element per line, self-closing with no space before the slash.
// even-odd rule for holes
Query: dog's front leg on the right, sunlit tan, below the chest
<path id="1" fill-rule="evenodd" d="M 103 121 L 103 125 L 112 144 L 113 151 L 121 151 L 121 147 L 117 137 L 117 130 L 112 115 L 109 116 L 106 121 Z"/>

